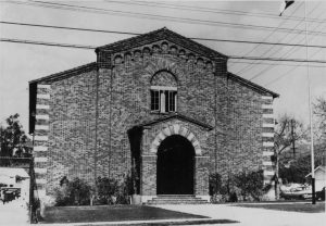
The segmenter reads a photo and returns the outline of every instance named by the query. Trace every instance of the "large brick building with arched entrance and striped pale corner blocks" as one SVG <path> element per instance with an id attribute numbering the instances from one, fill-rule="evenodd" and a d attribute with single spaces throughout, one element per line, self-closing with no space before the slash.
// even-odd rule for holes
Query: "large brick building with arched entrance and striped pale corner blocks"
<path id="1" fill-rule="evenodd" d="M 135 165 L 139 193 L 208 199 L 209 174 L 274 175 L 273 100 L 228 56 L 166 28 L 96 49 L 97 61 L 29 83 L 38 192 Z"/>

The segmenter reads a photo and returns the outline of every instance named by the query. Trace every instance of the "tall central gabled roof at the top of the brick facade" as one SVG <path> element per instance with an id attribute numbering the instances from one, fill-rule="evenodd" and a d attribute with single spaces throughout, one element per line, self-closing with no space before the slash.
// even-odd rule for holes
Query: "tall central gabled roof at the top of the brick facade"
<path id="1" fill-rule="evenodd" d="M 174 33 L 166 27 L 163 27 L 158 30 L 153 30 L 143 35 L 139 35 L 136 37 L 131 37 L 128 39 L 124 39 L 111 45 L 105 45 L 102 47 L 98 47 L 96 52 L 98 51 L 109 51 L 109 52 L 120 52 L 126 51 L 133 48 L 141 47 L 145 45 L 149 45 L 160 40 L 168 40 L 175 45 L 184 47 L 185 49 L 191 50 L 200 55 L 206 56 L 209 59 L 227 59 L 226 55 L 212 50 L 201 43 L 198 43 L 189 38 L 186 38 L 177 33 Z"/>

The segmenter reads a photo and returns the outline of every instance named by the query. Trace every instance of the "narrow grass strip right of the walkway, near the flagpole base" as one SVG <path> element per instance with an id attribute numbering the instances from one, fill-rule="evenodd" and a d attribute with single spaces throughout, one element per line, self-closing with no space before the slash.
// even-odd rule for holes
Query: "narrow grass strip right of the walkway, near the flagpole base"
<path id="1" fill-rule="evenodd" d="M 276 211 L 291 211 L 302 213 L 323 213 L 325 212 L 325 202 L 311 203 L 264 203 L 264 204 L 235 204 L 241 208 L 260 208 Z"/>

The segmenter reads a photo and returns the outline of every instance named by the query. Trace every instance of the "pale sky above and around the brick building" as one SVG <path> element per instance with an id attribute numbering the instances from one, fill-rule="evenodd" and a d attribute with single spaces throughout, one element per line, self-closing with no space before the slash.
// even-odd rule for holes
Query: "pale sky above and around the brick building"
<path id="1" fill-rule="evenodd" d="M 72 10 L 66 5 L 49 7 L 51 2 L 97 8 L 101 11 Z M 280 3 L 281 1 L 0 1 L 0 20 L 140 34 L 167 27 L 186 37 L 301 45 L 305 45 L 308 40 L 310 46 L 326 46 L 325 1 L 306 1 L 306 24 L 303 1 L 296 1 L 283 16 L 278 16 Z M 168 20 L 166 16 L 170 16 Z M 222 26 L 221 22 L 228 25 Z M 229 23 L 242 26 L 235 27 Z M 272 28 L 250 29 L 243 25 Z M 308 39 L 305 33 L 298 34 L 294 30 L 304 30 L 305 25 L 308 30 L 313 32 L 308 35 Z M 103 46 L 131 37 L 3 23 L 0 23 L 0 36 L 85 46 Z M 197 41 L 226 55 L 306 59 L 304 47 Z M 326 61 L 326 49 L 309 48 L 308 59 Z M 18 113 L 27 131 L 28 81 L 95 61 L 93 50 L 0 41 L 0 121 Z M 287 113 L 304 123 L 309 122 L 308 71 L 311 99 L 315 102 L 318 97 L 326 98 L 325 66 L 322 63 L 310 63 L 308 70 L 305 63 L 228 61 L 229 72 L 280 95 L 274 101 L 276 117 Z"/>

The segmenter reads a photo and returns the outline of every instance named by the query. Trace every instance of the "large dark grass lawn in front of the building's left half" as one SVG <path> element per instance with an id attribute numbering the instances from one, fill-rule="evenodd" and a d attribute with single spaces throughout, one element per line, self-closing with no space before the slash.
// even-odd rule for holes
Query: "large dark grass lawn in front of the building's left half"
<path id="1" fill-rule="evenodd" d="M 101 205 L 47 208 L 46 218 L 40 223 L 91 223 L 172 218 L 208 219 L 208 217 L 201 215 L 192 215 L 145 205 Z"/>

